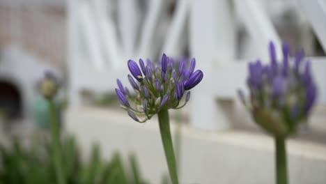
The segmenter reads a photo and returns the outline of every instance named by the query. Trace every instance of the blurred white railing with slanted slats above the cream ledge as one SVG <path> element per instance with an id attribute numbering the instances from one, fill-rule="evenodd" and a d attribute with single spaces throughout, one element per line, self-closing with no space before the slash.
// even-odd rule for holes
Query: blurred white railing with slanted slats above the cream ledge
<path id="1" fill-rule="evenodd" d="M 235 99 L 236 89 L 245 89 L 247 62 L 236 59 L 238 21 L 250 37 L 244 50 L 254 49 L 257 58 L 269 61 L 267 43 L 274 40 L 281 54 L 281 39 L 261 2 L 180 0 L 171 18 L 167 1 L 148 1 L 147 11 L 139 10 L 135 2 L 68 1 L 72 105 L 79 105 L 80 89 L 113 91 L 116 78 L 127 83 L 127 59 L 155 59 L 162 52 L 178 56 L 189 47 L 190 56 L 196 57 L 205 75 L 200 88 L 194 90 L 190 123 L 205 129 L 228 128 L 215 99 Z M 311 23 L 326 52 L 325 2 L 297 0 L 297 8 Z M 326 58 L 311 60 L 319 86 L 318 102 L 326 103 Z"/>

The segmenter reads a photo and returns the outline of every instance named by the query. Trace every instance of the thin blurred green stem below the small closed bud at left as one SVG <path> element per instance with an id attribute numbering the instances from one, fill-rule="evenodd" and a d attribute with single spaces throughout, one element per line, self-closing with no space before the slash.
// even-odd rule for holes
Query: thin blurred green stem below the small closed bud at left
<path id="1" fill-rule="evenodd" d="M 56 181 L 59 184 L 65 184 L 65 179 L 63 177 L 63 167 L 61 159 L 61 144 L 59 135 L 59 122 L 56 118 L 56 107 L 53 100 L 48 100 L 49 102 L 49 113 L 50 113 L 50 123 L 51 123 L 51 135 L 52 135 L 52 146 L 53 146 L 53 161 L 56 170 Z"/>

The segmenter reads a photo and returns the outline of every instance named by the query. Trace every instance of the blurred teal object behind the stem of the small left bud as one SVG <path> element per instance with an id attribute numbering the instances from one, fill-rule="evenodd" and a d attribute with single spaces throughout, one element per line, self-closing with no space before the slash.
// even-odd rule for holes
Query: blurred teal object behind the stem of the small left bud
<path id="1" fill-rule="evenodd" d="M 50 114 L 49 114 L 49 102 L 43 98 L 41 95 L 39 95 L 36 100 L 33 102 L 33 114 L 34 114 L 34 120 L 36 122 L 36 125 L 38 125 L 39 128 L 49 130 L 50 128 Z M 59 103 L 57 101 L 54 102 L 54 105 L 56 107 L 56 112 L 59 111 Z M 57 114 L 59 116 L 60 113 Z M 60 118 L 59 119 L 59 126 L 60 126 Z"/>

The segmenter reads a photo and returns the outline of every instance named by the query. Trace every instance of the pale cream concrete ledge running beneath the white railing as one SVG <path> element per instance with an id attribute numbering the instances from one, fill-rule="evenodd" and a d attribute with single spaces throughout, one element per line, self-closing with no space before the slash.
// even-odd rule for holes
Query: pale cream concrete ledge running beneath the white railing
<path id="1" fill-rule="evenodd" d="M 160 183 L 167 173 L 157 121 L 139 124 L 125 113 L 93 107 L 69 109 L 65 115 L 66 130 L 77 136 L 83 153 L 98 141 L 105 157 L 114 151 L 136 153 L 151 183 Z M 187 126 L 182 132 L 180 183 L 274 183 L 274 142 L 267 135 Z M 325 144 L 290 139 L 287 145 L 290 183 L 326 183 Z"/>

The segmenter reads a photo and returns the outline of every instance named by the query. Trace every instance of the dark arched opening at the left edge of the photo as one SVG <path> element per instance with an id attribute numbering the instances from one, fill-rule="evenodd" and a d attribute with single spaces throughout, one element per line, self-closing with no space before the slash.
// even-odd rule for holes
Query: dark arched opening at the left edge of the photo
<path id="1" fill-rule="evenodd" d="M 8 120 L 22 117 L 22 97 L 17 87 L 0 80 L 0 111 Z"/>

